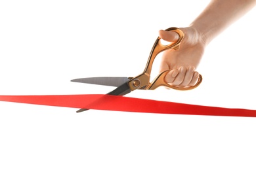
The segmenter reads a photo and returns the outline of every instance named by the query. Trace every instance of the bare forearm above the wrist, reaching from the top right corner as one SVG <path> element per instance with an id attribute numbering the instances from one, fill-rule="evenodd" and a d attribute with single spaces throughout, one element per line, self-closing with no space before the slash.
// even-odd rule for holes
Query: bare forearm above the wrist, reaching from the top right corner
<path id="1" fill-rule="evenodd" d="M 212 0 L 190 24 L 206 44 L 256 5 L 256 0 Z"/>

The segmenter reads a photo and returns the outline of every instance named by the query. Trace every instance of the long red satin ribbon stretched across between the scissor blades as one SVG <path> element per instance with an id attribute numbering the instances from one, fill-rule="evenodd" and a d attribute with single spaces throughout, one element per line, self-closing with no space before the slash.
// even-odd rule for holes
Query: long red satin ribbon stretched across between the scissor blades
<path id="1" fill-rule="evenodd" d="M 0 95 L 0 101 L 125 112 L 256 117 L 256 110 L 228 109 L 115 95 Z"/>

